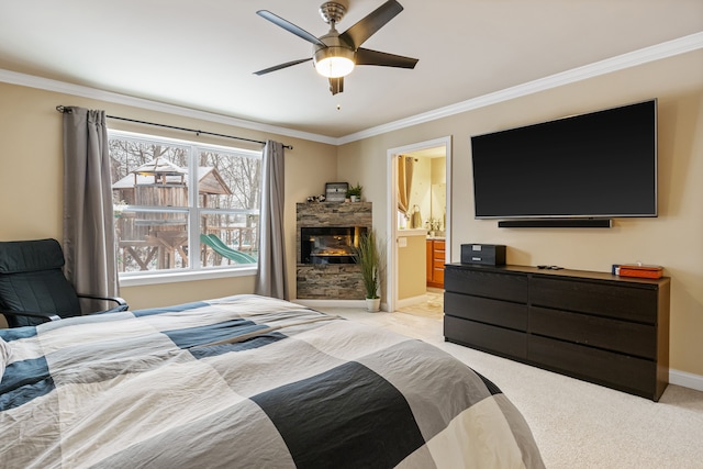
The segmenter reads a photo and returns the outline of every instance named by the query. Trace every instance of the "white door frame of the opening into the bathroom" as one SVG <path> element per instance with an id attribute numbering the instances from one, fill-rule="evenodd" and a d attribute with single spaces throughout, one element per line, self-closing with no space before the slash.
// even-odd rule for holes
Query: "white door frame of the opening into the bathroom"
<path id="1" fill-rule="evenodd" d="M 451 258 L 451 137 L 442 137 L 426 142 L 420 142 L 412 145 L 405 145 L 397 148 L 388 149 L 388 228 L 387 233 L 388 243 L 387 243 L 387 276 L 386 276 L 386 286 L 387 286 L 387 305 L 388 311 L 392 312 L 398 309 L 399 305 L 399 283 L 400 283 L 400 273 L 405 273 L 406 269 L 403 269 L 401 272 L 399 269 L 399 259 L 402 255 L 400 249 L 404 249 L 408 245 L 408 241 L 410 236 L 405 236 L 410 234 L 409 231 L 404 231 L 400 228 L 399 217 L 398 217 L 398 182 L 399 182 L 399 169 L 398 169 L 398 157 L 400 155 L 403 156 L 413 156 L 413 157 L 429 157 L 429 153 L 432 155 L 438 155 L 438 153 L 444 153 L 445 157 L 445 202 L 446 209 L 443 210 L 442 215 L 433 214 L 431 215 L 428 212 L 425 219 L 434 217 L 438 219 L 442 216 L 442 224 L 444 225 L 444 235 L 446 239 L 446 250 L 445 250 L 445 261 L 449 261 Z M 412 201 L 411 201 L 412 203 Z M 412 204 L 411 204 L 412 206 Z M 432 210 L 432 209 L 428 209 Z M 445 214 L 446 212 L 446 214 Z M 425 223 L 422 224 L 423 230 L 425 227 Z M 424 233 L 420 233 L 423 234 Z M 423 237 L 424 245 L 424 237 Z M 422 265 L 425 265 L 424 263 Z M 424 276 L 424 271 L 422 272 Z M 424 277 L 423 277 L 424 278 Z"/>

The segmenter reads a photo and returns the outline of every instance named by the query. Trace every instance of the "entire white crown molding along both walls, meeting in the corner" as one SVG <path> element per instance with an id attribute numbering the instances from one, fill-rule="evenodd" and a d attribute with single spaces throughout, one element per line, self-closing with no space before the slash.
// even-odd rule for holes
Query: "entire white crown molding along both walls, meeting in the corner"
<path id="1" fill-rule="evenodd" d="M 48 78 L 36 77 L 32 75 L 20 74 L 10 70 L 0 69 L 0 82 L 11 85 L 21 85 L 30 88 L 37 88 L 46 91 L 55 91 L 65 94 L 78 96 L 83 98 L 96 99 L 100 101 L 113 102 L 115 104 L 131 105 L 152 111 L 165 112 L 186 118 L 199 119 L 208 122 L 216 122 L 225 125 L 233 125 L 242 129 L 249 129 L 260 132 L 267 132 L 277 135 L 283 135 L 294 138 L 302 138 L 310 142 L 319 142 L 328 145 L 344 145 L 362 138 L 372 137 L 392 131 L 410 127 L 412 125 L 423 124 L 435 121 L 437 119 L 447 118 L 462 112 L 472 111 L 491 104 L 496 104 L 511 99 L 524 97 L 527 94 L 545 91 L 551 88 L 561 87 L 589 78 L 599 77 L 613 71 L 622 70 L 629 67 L 660 60 L 688 52 L 703 48 L 703 32 L 683 36 L 677 40 L 668 41 L 650 47 L 645 47 L 627 54 L 622 54 L 612 58 L 596 62 L 571 70 L 550 75 L 526 83 L 517 85 L 492 93 L 483 94 L 467 101 L 438 108 L 428 112 L 416 114 L 406 119 L 389 122 L 383 125 L 370 127 L 343 137 L 330 137 L 326 135 L 313 134 L 309 132 L 294 131 L 287 127 L 264 124 L 243 119 L 230 118 L 213 112 L 199 111 L 190 108 L 183 108 L 174 104 L 166 104 L 158 101 L 152 101 L 143 98 L 135 98 L 127 94 L 120 94 L 111 91 L 103 91 L 96 88 L 83 87 L 79 85 L 67 83 L 64 81 L 52 80 Z"/>

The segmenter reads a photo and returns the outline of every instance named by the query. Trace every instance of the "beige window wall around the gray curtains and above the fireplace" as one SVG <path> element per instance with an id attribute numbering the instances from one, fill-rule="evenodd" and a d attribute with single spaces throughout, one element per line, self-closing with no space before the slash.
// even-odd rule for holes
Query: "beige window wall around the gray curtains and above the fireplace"
<path id="1" fill-rule="evenodd" d="M 286 225 L 288 279 L 295 298 L 295 202 L 324 192 L 326 181 L 336 180 L 336 147 L 315 142 L 266 134 L 248 129 L 205 122 L 112 102 L 77 98 L 14 85 L 0 83 L 0 241 L 55 237 L 62 239 L 63 148 L 62 114 L 56 105 L 102 109 L 111 115 L 160 124 L 201 129 L 213 133 L 265 141 L 272 138 L 293 145 L 286 150 Z M 110 120 L 111 129 L 153 133 L 174 138 L 237 145 L 258 149 L 221 137 L 196 136 L 141 124 Z M 121 289 L 132 309 L 150 308 L 252 293 L 254 277 L 164 283 Z"/>

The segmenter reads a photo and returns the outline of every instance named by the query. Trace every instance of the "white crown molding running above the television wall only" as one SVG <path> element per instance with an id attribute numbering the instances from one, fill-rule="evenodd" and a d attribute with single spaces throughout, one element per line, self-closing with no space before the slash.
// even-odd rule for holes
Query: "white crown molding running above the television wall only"
<path id="1" fill-rule="evenodd" d="M 623 70 L 625 68 L 635 67 L 637 65 L 647 64 L 649 62 L 659 60 L 674 55 L 685 54 L 688 52 L 703 48 L 703 32 L 680 37 L 678 40 L 668 41 L 650 47 L 645 47 L 627 54 L 622 54 L 612 58 L 596 62 L 571 70 L 550 75 L 526 83 L 505 88 L 500 91 L 483 94 L 467 101 L 438 108 L 422 114 L 416 114 L 408 119 L 389 122 L 388 124 L 370 127 L 361 132 L 349 134 L 337 138 L 337 145 L 372 137 L 392 131 L 410 127 L 412 125 L 423 124 L 435 121 L 437 119 L 447 118 L 462 112 L 472 111 L 484 108 L 499 102 L 509 101 L 511 99 L 521 98 L 527 94 L 545 91 L 551 88 L 561 87 L 563 85 L 573 83 L 589 78 L 599 77 L 601 75 L 611 74 L 613 71 Z"/>

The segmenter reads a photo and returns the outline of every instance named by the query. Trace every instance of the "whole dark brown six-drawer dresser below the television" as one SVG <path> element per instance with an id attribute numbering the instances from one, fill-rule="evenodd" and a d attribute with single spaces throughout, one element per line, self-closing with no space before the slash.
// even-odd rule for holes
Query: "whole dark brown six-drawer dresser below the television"
<path id="1" fill-rule="evenodd" d="M 448 264 L 456 344 L 658 401 L 669 382 L 670 279 Z"/>

